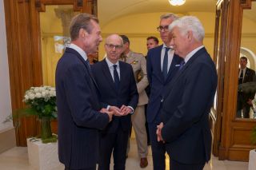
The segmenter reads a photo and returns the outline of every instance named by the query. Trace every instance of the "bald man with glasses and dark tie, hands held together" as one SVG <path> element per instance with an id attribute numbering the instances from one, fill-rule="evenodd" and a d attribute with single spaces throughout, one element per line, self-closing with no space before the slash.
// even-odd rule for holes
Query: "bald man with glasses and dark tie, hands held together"
<path id="1" fill-rule="evenodd" d="M 126 147 L 130 132 L 130 115 L 138 104 L 138 91 L 130 64 L 118 61 L 122 53 L 122 38 L 111 34 L 106 38 L 106 58 L 92 65 L 98 84 L 102 106 L 122 117 L 113 121 L 101 132 L 98 169 L 110 169 L 113 152 L 114 170 L 125 170 Z"/>

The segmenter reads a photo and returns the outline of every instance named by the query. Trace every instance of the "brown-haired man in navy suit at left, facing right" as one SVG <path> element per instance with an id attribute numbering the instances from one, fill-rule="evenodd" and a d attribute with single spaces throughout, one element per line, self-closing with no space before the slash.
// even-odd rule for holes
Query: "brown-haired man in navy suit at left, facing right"
<path id="1" fill-rule="evenodd" d="M 99 129 L 112 119 L 100 113 L 97 85 L 90 73 L 88 53 L 102 42 L 98 19 L 78 14 L 70 24 L 70 47 L 58 61 L 56 93 L 58 107 L 58 158 L 66 170 L 95 170 Z"/>

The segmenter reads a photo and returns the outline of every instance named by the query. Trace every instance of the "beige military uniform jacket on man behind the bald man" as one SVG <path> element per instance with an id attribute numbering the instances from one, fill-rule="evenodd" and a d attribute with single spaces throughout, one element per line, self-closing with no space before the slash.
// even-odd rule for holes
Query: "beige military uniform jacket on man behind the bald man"
<path id="1" fill-rule="evenodd" d="M 134 77 L 138 89 L 138 105 L 146 105 L 149 101 L 146 95 L 146 86 L 149 85 L 146 77 L 146 58 L 141 53 L 130 51 L 126 57 L 126 63 L 130 64 L 134 70 Z M 141 77 L 141 80 L 138 80 Z"/>

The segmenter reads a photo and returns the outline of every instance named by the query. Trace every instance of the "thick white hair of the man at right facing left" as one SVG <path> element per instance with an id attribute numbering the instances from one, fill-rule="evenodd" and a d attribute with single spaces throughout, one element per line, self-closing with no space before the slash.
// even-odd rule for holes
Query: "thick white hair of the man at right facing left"
<path id="1" fill-rule="evenodd" d="M 202 42 L 203 38 L 205 37 L 205 30 L 202 23 L 194 16 L 178 18 L 170 24 L 169 30 L 173 30 L 174 27 L 178 27 L 178 30 L 182 35 L 185 35 L 188 31 L 192 31 L 193 37 L 198 42 Z"/>

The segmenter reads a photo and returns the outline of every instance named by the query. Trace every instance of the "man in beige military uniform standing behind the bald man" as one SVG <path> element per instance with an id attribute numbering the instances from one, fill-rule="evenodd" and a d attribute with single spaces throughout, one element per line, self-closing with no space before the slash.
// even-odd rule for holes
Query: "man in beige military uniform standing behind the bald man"
<path id="1" fill-rule="evenodd" d="M 142 53 L 134 53 L 130 50 L 130 40 L 126 35 L 121 35 L 123 40 L 123 55 L 121 57 L 122 61 L 129 63 L 134 70 L 134 77 L 137 83 L 138 89 L 138 106 L 131 116 L 132 125 L 134 127 L 134 132 L 136 136 L 137 146 L 138 146 L 138 156 L 141 158 L 140 167 L 146 168 L 147 162 L 147 136 L 145 127 L 145 105 L 148 102 L 148 97 L 145 92 L 146 86 L 149 84 L 146 77 L 146 58 Z"/>

